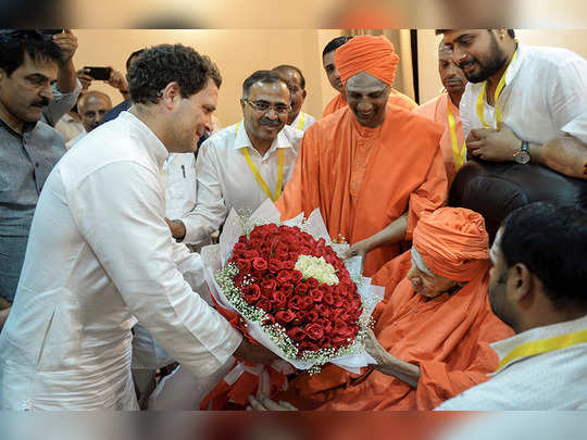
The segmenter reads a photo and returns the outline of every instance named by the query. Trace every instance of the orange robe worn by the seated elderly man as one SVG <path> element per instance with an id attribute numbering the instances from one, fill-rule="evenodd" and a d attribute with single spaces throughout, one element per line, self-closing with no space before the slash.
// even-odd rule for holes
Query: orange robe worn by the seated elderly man
<path id="1" fill-rule="evenodd" d="M 389 264 L 397 267 L 396 262 Z M 330 364 L 315 376 L 294 379 L 280 398 L 302 410 L 427 411 L 486 381 L 499 362 L 489 344 L 513 335 L 491 312 L 488 280 L 486 266 L 452 296 L 428 300 L 404 278 L 387 296 L 374 331 L 389 353 L 420 366 L 416 388 L 377 370 L 364 369 L 358 376 Z"/>

